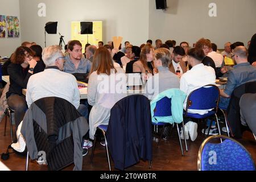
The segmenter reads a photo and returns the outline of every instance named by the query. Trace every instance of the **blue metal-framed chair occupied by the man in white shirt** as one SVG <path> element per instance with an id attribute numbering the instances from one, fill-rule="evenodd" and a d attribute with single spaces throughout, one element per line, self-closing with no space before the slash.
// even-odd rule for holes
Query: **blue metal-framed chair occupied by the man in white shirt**
<path id="1" fill-rule="evenodd" d="M 204 119 L 208 117 L 212 117 L 215 115 L 217 125 L 218 125 L 218 132 L 221 134 L 220 125 L 218 123 L 218 117 L 217 117 L 217 110 L 218 110 L 218 101 L 220 100 L 220 90 L 216 85 L 205 85 L 202 86 L 199 89 L 193 90 L 188 96 L 187 99 L 187 107 L 184 113 L 185 117 L 190 118 L 196 118 L 196 119 Z M 189 113 L 189 109 L 194 110 L 208 110 L 213 109 L 211 111 L 208 111 L 206 114 L 192 114 Z M 212 120 L 210 122 L 210 126 L 212 125 Z M 209 127 L 210 127 L 209 126 Z M 209 134 L 208 130 L 208 134 Z"/>

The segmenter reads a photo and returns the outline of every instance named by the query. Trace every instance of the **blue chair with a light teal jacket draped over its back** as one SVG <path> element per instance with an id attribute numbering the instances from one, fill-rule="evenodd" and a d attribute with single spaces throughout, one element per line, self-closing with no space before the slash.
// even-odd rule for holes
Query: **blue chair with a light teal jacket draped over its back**
<path id="1" fill-rule="evenodd" d="M 154 109 L 154 116 L 155 117 L 168 117 L 168 116 L 171 116 L 171 115 L 172 115 L 172 111 L 171 111 L 171 98 L 163 97 L 161 100 L 156 102 L 156 106 L 155 106 L 155 109 Z M 170 123 L 161 122 L 161 121 L 159 121 L 158 123 L 152 122 L 152 125 L 163 126 L 161 134 L 160 134 L 158 145 L 160 143 L 160 140 L 162 139 L 164 127 L 166 127 L 166 125 L 169 125 L 169 124 Z M 183 147 L 182 147 L 182 143 L 181 143 L 181 139 L 180 139 L 179 126 L 178 126 L 178 123 L 176 123 L 176 124 L 177 124 L 177 132 L 178 132 L 178 135 L 179 135 L 181 154 L 184 155 Z M 183 135 L 184 135 L 184 138 L 185 138 L 185 131 L 184 131 L 185 129 L 184 129 L 184 122 L 183 121 L 182 121 L 182 124 L 183 124 L 183 127 L 182 127 Z M 185 147 L 186 147 L 186 151 L 188 151 L 186 140 L 185 140 Z"/>

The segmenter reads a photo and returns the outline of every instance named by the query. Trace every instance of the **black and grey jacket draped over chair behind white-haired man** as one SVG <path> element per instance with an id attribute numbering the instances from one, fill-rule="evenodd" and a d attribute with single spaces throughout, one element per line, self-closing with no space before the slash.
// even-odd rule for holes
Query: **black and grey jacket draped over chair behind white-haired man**
<path id="1" fill-rule="evenodd" d="M 46 152 L 49 170 L 59 170 L 75 163 L 82 169 L 82 137 L 89 130 L 84 117 L 67 100 L 41 98 L 31 104 L 23 119 L 21 133 L 26 139 L 31 159 Z"/>

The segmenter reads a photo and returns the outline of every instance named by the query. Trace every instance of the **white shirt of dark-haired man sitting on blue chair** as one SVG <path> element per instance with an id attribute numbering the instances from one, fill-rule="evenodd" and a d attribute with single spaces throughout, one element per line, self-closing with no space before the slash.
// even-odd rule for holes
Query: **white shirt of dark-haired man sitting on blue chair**
<path id="1" fill-rule="evenodd" d="M 187 94 L 183 108 L 186 109 L 189 94 L 196 89 L 208 84 L 215 84 L 216 76 L 212 67 L 208 67 L 203 63 L 195 65 L 191 70 L 185 72 L 180 78 L 180 90 Z M 203 98 L 202 98 L 203 99 Z M 210 109 L 212 110 L 212 109 Z M 206 114 L 210 110 L 189 109 L 192 114 Z"/>

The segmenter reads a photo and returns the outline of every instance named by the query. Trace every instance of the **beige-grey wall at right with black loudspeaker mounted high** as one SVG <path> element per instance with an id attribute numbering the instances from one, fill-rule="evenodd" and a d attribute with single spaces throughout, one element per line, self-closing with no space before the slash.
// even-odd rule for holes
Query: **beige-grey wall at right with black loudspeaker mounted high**
<path id="1" fill-rule="evenodd" d="M 208 38 L 218 48 L 225 42 L 247 42 L 256 32 L 255 0 L 167 0 L 167 11 L 156 10 L 149 0 L 149 37 L 187 41 L 191 46 Z M 217 17 L 210 18 L 209 3 L 216 3 Z"/>

